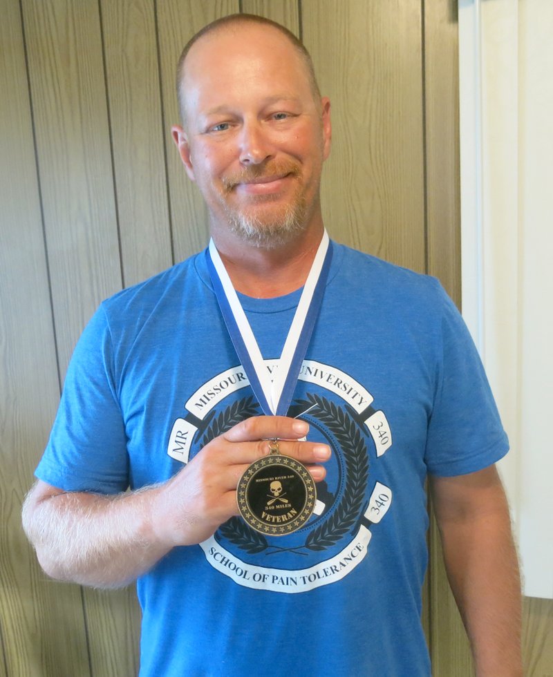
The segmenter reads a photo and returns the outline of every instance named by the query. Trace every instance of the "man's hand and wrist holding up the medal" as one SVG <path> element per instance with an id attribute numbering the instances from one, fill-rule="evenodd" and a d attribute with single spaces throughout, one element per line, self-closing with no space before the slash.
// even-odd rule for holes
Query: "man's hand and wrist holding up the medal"
<path id="1" fill-rule="evenodd" d="M 328 461 L 326 444 L 299 441 L 308 432 L 299 419 L 253 417 L 212 440 L 167 484 L 157 488 L 151 523 L 167 547 L 200 543 L 229 517 L 238 515 L 236 486 L 247 467 L 270 453 L 268 439 L 279 438 L 279 451 L 308 466 L 315 481 L 326 470 L 312 464 Z"/>

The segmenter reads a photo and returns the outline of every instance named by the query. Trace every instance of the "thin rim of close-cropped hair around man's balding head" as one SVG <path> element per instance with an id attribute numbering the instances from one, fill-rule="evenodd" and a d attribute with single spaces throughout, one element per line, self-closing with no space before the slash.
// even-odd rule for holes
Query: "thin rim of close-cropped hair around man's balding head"
<path id="1" fill-rule="evenodd" d="M 321 99 L 321 93 L 319 86 L 317 84 L 317 78 L 315 77 L 315 69 L 313 68 L 313 63 L 308 53 L 308 50 L 301 44 L 299 39 L 284 26 L 281 26 L 280 23 L 276 21 L 271 21 L 270 19 L 265 19 L 264 17 L 258 17 L 252 14 L 233 14 L 227 17 L 222 17 L 221 19 L 216 19 L 212 23 L 208 23 L 207 26 L 204 26 L 199 30 L 196 35 L 191 37 L 187 42 L 185 48 L 182 50 L 180 58 L 178 59 L 177 73 L 176 73 L 176 90 L 178 98 L 178 106 L 180 111 L 180 117 L 182 124 L 186 125 L 187 121 L 187 109 L 186 109 L 186 69 L 187 69 L 187 57 L 189 52 L 192 50 L 194 45 L 203 39 L 216 39 L 216 36 L 219 32 L 229 32 L 231 34 L 238 34 L 241 28 L 253 26 L 260 26 L 268 28 L 269 30 L 277 30 L 285 39 L 290 43 L 294 52 L 298 57 L 300 57 L 301 64 L 306 69 L 306 76 L 312 91 L 313 98 L 315 101 Z"/>

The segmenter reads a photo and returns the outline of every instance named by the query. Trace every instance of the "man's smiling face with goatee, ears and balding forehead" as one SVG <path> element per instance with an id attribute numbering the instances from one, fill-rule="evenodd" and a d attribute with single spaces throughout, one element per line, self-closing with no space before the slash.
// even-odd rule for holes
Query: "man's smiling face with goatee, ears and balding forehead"
<path id="1" fill-rule="evenodd" d="M 330 103 L 316 96 L 300 48 L 243 25 L 203 35 L 181 60 L 182 162 L 207 202 L 212 235 L 274 249 L 320 240 L 319 182 L 330 150 Z M 315 240 L 314 240 L 315 241 Z M 318 242 L 317 242 L 318 244 Z"/>

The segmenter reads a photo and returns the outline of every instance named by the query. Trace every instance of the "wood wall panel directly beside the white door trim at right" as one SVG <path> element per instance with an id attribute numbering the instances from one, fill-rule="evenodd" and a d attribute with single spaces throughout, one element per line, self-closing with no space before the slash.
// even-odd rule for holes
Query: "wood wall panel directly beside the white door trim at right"
<path id="1" fill-rule="evenodd" d="M 425 196 L 427 272 L 460 302 L 460 187 L 457 20 L 449 0 L 424 3 Z M 433 674 L 474 673 L 465 628 L 449 588 L 440 534 L 431 511 L 429 645 Z"/>

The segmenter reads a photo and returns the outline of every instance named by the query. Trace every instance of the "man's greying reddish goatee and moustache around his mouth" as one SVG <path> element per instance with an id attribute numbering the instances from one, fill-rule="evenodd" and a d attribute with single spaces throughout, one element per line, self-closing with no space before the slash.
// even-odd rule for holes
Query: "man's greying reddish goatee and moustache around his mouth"
<path id="1" fill-rule="evenodd" d="M 240 173 L 225 178 L 225 196 L 234 187 L 244 181 L 268 175 L 293 175 L 299 177 L 299 165 L 288 162 L 286 164 L 269 166 L 252 166 L 243 169 Z M 308 224 L 308 209 L 301 186 L 288 204 L 276 207 L 272 204 L 273 196 L 255 196 L 255 213 L 247 213 L 241 209 L 232 208 L 225 196 L 221 198 L 221 205 L 225 210 L 228 225 L 233 233 L 242 240 L 260 249 L 275 249 L 287 244 L 298 233 L 306 229 Z M 265 209 L 263 206 L 266 205 Z"/>

